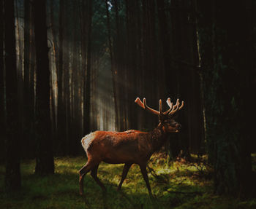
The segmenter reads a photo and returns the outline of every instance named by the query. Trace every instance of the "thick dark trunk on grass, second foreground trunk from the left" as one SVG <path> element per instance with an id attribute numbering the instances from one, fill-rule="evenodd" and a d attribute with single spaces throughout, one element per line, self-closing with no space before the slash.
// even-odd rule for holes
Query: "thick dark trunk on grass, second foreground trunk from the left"
<path id="1" fill-rule="evenodd" d="M 46 1 L 34 2 L 34 34 L 37 55 L 36 140 L 35 173 L 54 173 L 53 144 L 50 131 L 50 70 L 46 26 Z"/>

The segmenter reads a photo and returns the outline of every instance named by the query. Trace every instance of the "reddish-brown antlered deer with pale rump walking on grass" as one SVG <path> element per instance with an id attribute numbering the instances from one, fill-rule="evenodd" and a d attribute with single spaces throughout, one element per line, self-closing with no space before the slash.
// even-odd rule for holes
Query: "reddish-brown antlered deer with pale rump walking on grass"
<path id="1" fill-rule="evenodd" d="M 143 102 L 140 98 L 136 98 L 135 103 L 141 108 L 149 111 L 151 114 L 156 114 L 159 118 L 159 124 L 151 132 L 143 132 L 140 130 L 127 130 L 124 132 L 116 131 L 100 131 L 97 130 L 89 133 L 81 140 L 83 149 L 86 151 L 87 162 L 79 170 L 80 194 L 83 194 L 83 178 L 86 173 L 91 171 L 91 177 L 105 192 L 105 186 L 97 177 L 97 170 L 100 162 L 109 164 L 124 164 L 124 169 L 121 176 L 121 181 L 117 190 L 121 190 L 124 179 L 127 177 L 129 168 L 133 164 L 140 167 L 140 171 L 146 182 L 148 194 L 152 196 L 151 187 L 148 182 L 148 173 L 146 165 L 151 155 L 158 151 L 167 141 L 167 136 L 170 133 L 178 133 L 181 130 L 181 125 L 174 119 L 184 106 L 184 101 L 181 103 L 176 100 L 176 105 L 167 98 L 169 109 L 162 111 L 162 100 L 159 100 L 159 111 L 151 109 L 146 104 L 146 98 Z"/>

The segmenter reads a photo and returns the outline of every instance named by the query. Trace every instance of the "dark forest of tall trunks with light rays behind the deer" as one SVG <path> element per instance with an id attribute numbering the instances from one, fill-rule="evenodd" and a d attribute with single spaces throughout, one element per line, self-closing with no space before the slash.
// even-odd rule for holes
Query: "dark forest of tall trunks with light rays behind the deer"
<path id="1" fill-rule="evenodd" d="M 255 194 L 255 10 L 253 0 L 1 0 L 7 191 L 20 187 L 20 160 L 54 173 L 53 157 L 84 154 L 87 133 L 152 130 L 157 117 L 135 98 L 157 109 L 170 97 L 185 101 L 182 131 L 162 151 L 207 154 L 215 192 Z"/>

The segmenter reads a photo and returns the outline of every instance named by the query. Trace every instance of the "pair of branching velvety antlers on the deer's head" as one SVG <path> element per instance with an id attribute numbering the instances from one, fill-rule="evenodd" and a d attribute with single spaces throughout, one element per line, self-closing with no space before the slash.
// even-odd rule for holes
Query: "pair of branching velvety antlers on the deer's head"
<path id="1" fill-rule="evenodd" d="M 148 107 L 146 105 L 146 98 L 143 98 L 143 102 L 140 100 L 140 98 L 136 98 L 136 100 L 135 100 L 135 103 L 137 103 L 138 106 L 142 107 L 143 109 L 146 109 L 147 111 L 149 111 L 153 114 L 157 114 L 157 115 L 168 114 L 169 116 L 172 116 L 173 114 L 176 113 L 176 111 L 179 111 L 184 106 L 184 101 L 182 101 L 181 106 L 179 106 L 180 105 L 179 99 L 177 99 L 175 106 L 173 106 L 173 103 L 170 102 L 170 98 L 167 98 L 166 102 L 167 102 L 167 105 L 170 107 L 170 109 L 168 109 L 165 112 L 162 112 L 162 100 L 159 100 L 159 111 Z"/>

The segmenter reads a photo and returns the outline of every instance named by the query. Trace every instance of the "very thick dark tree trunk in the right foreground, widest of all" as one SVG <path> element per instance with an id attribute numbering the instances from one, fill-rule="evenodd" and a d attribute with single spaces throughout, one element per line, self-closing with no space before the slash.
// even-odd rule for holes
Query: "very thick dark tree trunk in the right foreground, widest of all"
<path id="1" fill-rule="evenodd" d="M 255 103 L 249 102 L 252 84 L 252 1 L 213 1 L 211 6 L 198 1 L 202 63 L 211 63 L 206 56 L 211 46 L 213 65 L 203 66 L 206 98 L 207 143 L 214 165 L 214 186 L 217 194 L 236 197 L 252 196 L 252 159 L 249 141 L 255 138 L 253 125 Z M 227 11 L 230 11 L 227 15 Z M 211 19 L 208 18 L 211 14 Z M 205 32 L 211 25 L 211 39 Z M 237 29 L 239 28 L 239 30 Z M 206 42 L 210 41 L 210 42 Z M 243 40 L 244 42 L 238 42 Z M 225 119 L 225 121 L 223 120 Z M 211 149 L 210 149 L 211 148 Z M 254 189 L 254 191 L 253 191 Z"/>

